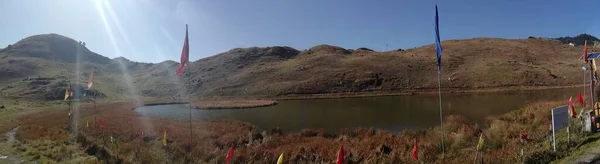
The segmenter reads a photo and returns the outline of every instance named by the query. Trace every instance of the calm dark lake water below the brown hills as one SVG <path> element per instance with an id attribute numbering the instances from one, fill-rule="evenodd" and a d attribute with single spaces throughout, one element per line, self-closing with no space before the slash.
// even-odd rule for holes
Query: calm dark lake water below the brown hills
<path id="1" fill-rule="evenodd" d="M 444 115 L 457 114 L 482 123 L 487 116 L 501 115 L 539 100 L 564 100 L 581 88 L 442 94 Z M 146 116 L 187 121 L 189 111 L 181 105 L 145 106 L 135 109 Z M 548 109 L 550 110 L 550 109 Z M 304 128 L 337 132 L 343 128 L 374 127 L 390 131 L 425 129 L 440 124 L 437 94 L 385 97 L 287 100 L 271 107 L 224 110 L 192 110 L 193 120 L 232 119 L 259 128 L 284 131 Z"/>

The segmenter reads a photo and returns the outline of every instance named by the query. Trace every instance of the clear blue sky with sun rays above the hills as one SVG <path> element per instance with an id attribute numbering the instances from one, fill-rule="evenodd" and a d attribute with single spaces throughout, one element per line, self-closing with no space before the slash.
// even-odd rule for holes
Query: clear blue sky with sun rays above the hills
<path id="1" fill-rule="evenodd" d="M 179 61 L 236 47 L 318 44 L 383 51 L 474 37 L 600 36 L 598 0 L 2 0 L 0 47 L 35 34 L 81 40 L 101 55 Z"/>

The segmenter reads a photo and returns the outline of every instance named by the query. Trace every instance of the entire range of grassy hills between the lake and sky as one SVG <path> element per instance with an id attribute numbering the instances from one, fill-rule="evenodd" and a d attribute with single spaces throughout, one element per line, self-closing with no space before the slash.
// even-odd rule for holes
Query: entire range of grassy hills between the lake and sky
<path id="1" fill-rule="evenodd" d="M 444 90 L 568 86 L 581 83 L 580 48 L 545 39 L 474 38 L 443 41 Z M 437 89 L 434 46 L 377 52 L 318 45 L 236 48 L 191 63 L 108 59 L 56 35 L 25 38 L 0 51 L 0 96 L 58 100 L 70 79 L 79 92 L 90 70 L 107 98 L 281 97 L 339 93 L 423 92 Z M 189 72 L 186 72 L 189 74 Z M 186 76 L 187 77 L 187 76 Z M 184 86 L 190 80 L 191 86 Z"/>

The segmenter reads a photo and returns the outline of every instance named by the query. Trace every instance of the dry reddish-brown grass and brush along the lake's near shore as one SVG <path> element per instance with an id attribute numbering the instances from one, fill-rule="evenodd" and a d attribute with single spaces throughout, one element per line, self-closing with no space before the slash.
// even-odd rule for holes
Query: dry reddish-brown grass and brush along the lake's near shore
<path id="1" fill-rule="evenodd" d="M 529 162 L 549 162 L 568 155 L 568 151 L 553 153 L 547 143 L 549 109 L 563 102 L 539 102 L 503 116 L 489 118 L 485 125 L 476 125 L 460 116 L 445 119 L 446 163 L 464 163 L 473 159 L 479 131 L 486 136 L 485 159 L 490 163 L 515 163 L 515 153 L 521 145 L 520 130 L 529 133 L 525 144 Z M 420 158 L 425 163 L 441 163 L 439 127 L 423 131 L 392 133 L 377 129 L 348 129 L 339 133 L 321 130 L 283 132 L 266 130 L 238 121 L 220 120 L 193 123 L 193 158 L 189 158 L 189 124 L 140 116 L 129 103 L 100 105 L 97 117 L 105 122 L 104 129 L 85 128 L 85 120 L 93 120 L 91 108 L 83 107 L 79 119 L 80 134 L 88 147 L 105 147 L 129 162 L 139 163 L 216 163 L 223 162 L 230 144 L 236 146 L 235 163 L 274 163 L 285 153 L 286 162 L 332 162 L 343 145 L 348 163 L 418 163 L 410 158 L 413 139 L 419 140 Z M 251 109 L 249 109 L 251 110 Z M 18 139 L 68 140 L 66 109 L 44 111 L 18 119 L 21 129 Z M 163 130 L 168 146 L 161 146 Z M 139 133 L 145 137 L 140 139 Z M 113 137 L 115 143 L 108 140 Z M 573 142 L 582 142 L 586 134 L 573 135 Z M 117 148 L 118 145 L 118 148 Z M 573 149 L 573 148 L 572 148 Z M 545 162 L 544 162 L 545 161 Z"/>

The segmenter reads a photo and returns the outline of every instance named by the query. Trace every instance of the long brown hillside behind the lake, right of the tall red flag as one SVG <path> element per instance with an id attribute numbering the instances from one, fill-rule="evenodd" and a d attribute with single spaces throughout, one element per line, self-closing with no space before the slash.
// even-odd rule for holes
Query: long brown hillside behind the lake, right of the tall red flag
<path id="1" fill-rule="evenodd" d="M 442 44 L 445 89 L 581 83 L 579 48 L 543 39 L 477 38 Z M 195 91 L 202 96 L 412 92 L 436 89 L 434 53 L 432 45 L 388 52 L 320 45 L 279 60 L 247 61 L 226 58 L 243 54 L 232 50 L 192 67 L 197 72 L 194 78 L 201 81 Z"/>

